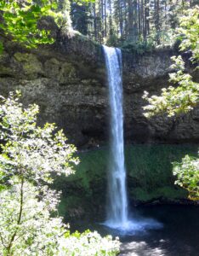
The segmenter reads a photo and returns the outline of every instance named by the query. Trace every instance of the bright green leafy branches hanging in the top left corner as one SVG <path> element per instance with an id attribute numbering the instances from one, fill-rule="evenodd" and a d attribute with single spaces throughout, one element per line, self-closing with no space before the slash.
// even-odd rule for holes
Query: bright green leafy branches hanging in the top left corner
<path id="1" fill-rule="evenodd" d="M 63 15 L 57 10 L 57 1 L 50 0 L 2 0 L 0 2 L 0 49 L 3 39 L 9 39 L 28 48 L 39 44 L 52 44 L 50 32 L 38 28 L 38 21 L 44 16 L 52 16 L 58 22 Z"/>

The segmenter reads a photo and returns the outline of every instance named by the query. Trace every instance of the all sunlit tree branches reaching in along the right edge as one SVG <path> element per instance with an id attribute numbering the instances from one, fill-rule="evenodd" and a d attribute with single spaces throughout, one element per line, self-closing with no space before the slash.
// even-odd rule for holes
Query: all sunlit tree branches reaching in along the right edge
<path id="1" fill-rule="evenodd" d="M 180 18 L 179 26 L 179 38 L 181 39 L 179 49 L 189 49 L 192 53 L 190 61 L 195 64 L 199 61 L 198 14 L 198 6 L 195 9 L 189 9 L 186 15 Z M 170 81 L 177 86 L 162 89 L 161 96 L 149 97 L 145 92 L 144 98 L 150 103 L 144 107 L 147 118 L 158 113 L 168 113 L 168 116 L 173 116 L 189 112 L 199 104 L 199 84 L 193 81 L 189 73 L 185 73 L 185 62 L 180 55 L 173 56 L 173 61 L 172 67 L 176 72 L 170 74 Z M 173 174 L 177 176 L 176 183 L 190 192 L 191 199 L 199 198 L 199 152 L 196 159 L 186 155 L 181 163 L 173 163 Z"/>

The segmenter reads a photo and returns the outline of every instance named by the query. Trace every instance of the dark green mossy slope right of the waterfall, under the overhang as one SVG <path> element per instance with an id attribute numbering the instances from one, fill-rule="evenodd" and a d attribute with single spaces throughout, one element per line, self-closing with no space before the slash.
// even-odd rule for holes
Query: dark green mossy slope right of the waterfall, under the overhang
<path id="1" fill-rule="evenodd" d="M 129 198 L 133 201 L 179 201 L 187 197 L 174 185 L 172 162 L 196 154 L 194 146 L 138 145 L 126 148 Z"/>

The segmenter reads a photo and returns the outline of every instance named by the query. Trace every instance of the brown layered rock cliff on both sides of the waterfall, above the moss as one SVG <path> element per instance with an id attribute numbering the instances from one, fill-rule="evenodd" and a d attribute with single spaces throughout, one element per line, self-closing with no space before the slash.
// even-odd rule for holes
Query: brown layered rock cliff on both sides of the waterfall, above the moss
<path id="1" fill-rule="evenodd" d="M 136 55 L 122 53 L 125 138 L 129 143 L 199 142 L 199 109 L 177 119 L 143 115 L 144 90 L 156 94 L 168 84 L 171 49 Z M 195 74 L 196 76 L 196 74 Z M 23 102 L 40 106 L 39 122 L 55 122 L 71 143 L 107 142 L 108 87 L 99 44 L 78 34 L 58 33 L 54 45 L 37 50 L 7 44 L 0 55 L 0 92 L 20 89 Z"/>

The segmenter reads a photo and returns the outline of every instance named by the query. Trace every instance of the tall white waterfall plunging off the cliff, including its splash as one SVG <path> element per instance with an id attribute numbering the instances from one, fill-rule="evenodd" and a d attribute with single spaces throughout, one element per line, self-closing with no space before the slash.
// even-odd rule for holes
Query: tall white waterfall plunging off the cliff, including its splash
<path id="1" fill-rule="evenodd" d="M 159 229 L 162 224 L 154 219 L 129 218 L 124 164 L 122 110 L 122 52 L 103 45 L 111 108 L 111 159 L 108 173 L 107 217 L 104 224 L 119 234 L 136 230 Z"/>

